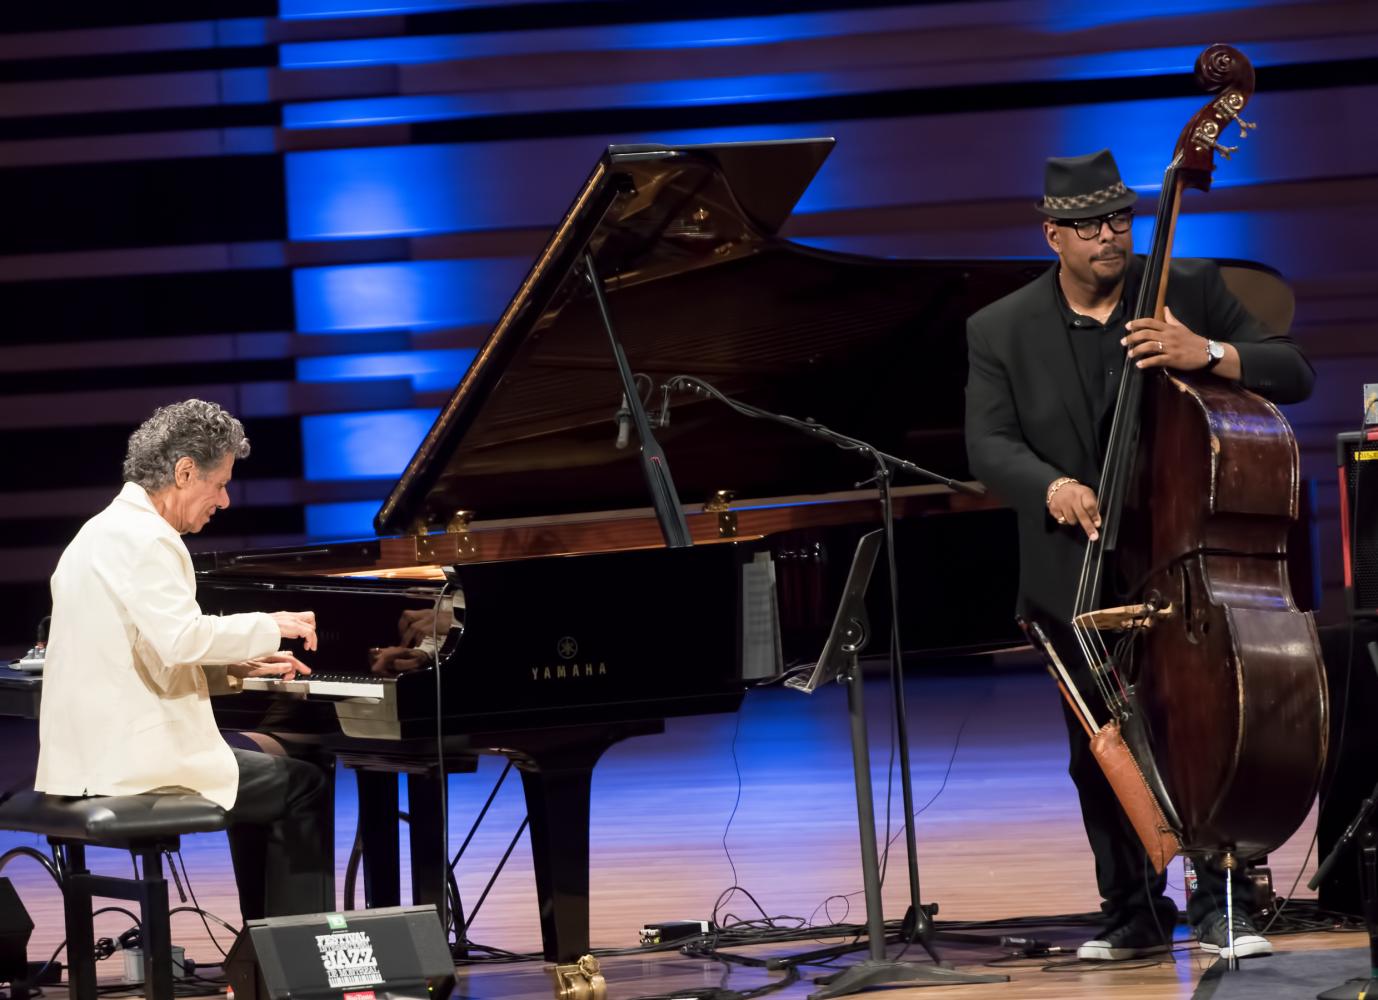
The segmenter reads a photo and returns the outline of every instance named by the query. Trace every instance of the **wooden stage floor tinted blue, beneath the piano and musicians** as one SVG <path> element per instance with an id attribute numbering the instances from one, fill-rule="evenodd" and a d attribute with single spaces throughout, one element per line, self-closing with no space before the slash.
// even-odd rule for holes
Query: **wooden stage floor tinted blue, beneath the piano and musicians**
<path id="1" fill-rule="evenodd" d="M 882 678 L 868 683 L 867 698 L 878 822 L 883 829 L 887 683 Z M 940 950 L 944 959 L 973 971 L 995 971 L 991 968 L 995 963 L 1014 983 L 894 988 L 883 994 L 933 1000 L 992 992 L 1073 999 L 1191 997 L 1211 957 L 1197 952 L 1181 928 L 1171 960 L 1158 963 L 1097 967 L 1054 953 L 1006 964 L 1002 957 L 1000 935 L 1032 935 L 1075 952 L 1096 930 L 1068 920 L 1050 920 L 1039 928 L 1020 924 L 1027 917 L 1084 915 L 1098 906 L 1091 857 L 1065 770 L 1058 694 L 1047 676 L 1027 660 L 956 661 L 941 674 L 925 672 L 909 679 L 908 711 L 914 793 L 922 807 L 916 829 L 923 901 L 940 905 L 940 930 L 952 928 L 952 921 L 1006 921 L 1003 927 L 955 928 L 988 942 L 940 939 Z M 30 733 L 32 729 L 14 723 L 6 727 L 11 753 L 4 787 L 22 778 L 25 767 L 32 774 L 32 753 L 25 749 Z M 478 774 L 452 778 L 452 851 L 469 832 L 500 770 L 502 760 L 485 759 Z M 896 820 L 901 815 L 897 788 L 890 814 Z M 459 871 L 466 906 L 477 901 L 522 815 L 520 784 L 513 775 Z M 729 817 L 732 825 L 723 836 Z M 340 872 L 356 820 L 353 777 L 346 773 L 339 780 Z M 1293 894 L 1298 876 L 1297 894 L 1310 895 L 1304 886 L 1316 865 L 1315 857 L 1308 857 L 1313 829 L 1315 814 L 1271 858 L 1275 884 L 1283 895 Z M 750 891 L 763 913 L 750 898 L 734 894 L 719 906 L 721 921 L 762 916 L 791 926 L 864 921 L 845 691 L 832 687 L 802 696 L 781 689 L 758 690 L 747 697 L 740 715 L 671 720 L 664 736 L 615 747 L 595 773 L 591 840 L 591 933 L 597 948 L 635 948 L 637 931 L 646 921 L 708 919 L 715 901 L 733 884 Z M 0 833 L 0 850 L 19 843 L 43 848 L 34 837 Z M 110 851 L 94 855 L 96 871 L 128 871 L 127 857 Z M 187 837 L 183 857 L 200 905 L 237 924 L 223 835 Z M 12 862 L 4 875 L 15 882 L 36 923 L 29 957 L 45 959 L 62 939 L 55 887 L 28 860 Z M 1174 864 L 1170 882 L 1180 898 L 1180 862 Z M 892 920 L 903 916 L 908 902 L 903 837 L 894 842 L 883 895 L 886 916 Z M 130 924 L 119 913 L 106 913 L 98 917 L 96 933 L 116 937 Z M 219 924 L 212 921 L 209 927 L 214 939 L 196 915 L 174 916 L 175 942 L 203 966 L 218 963 L 218 949 L 229 948 L 233 939 Z M 470 937 L 508 952 L 539 948 L 525 842 L 518 844 L 478 912 Z M 1353 974 L 1366 970 L 1367 938 L 1361 934 L 1309 933 L 1273 937 L 1273 944 L 1279 950 L 1353 948 Z M 785 955 L 814 946 L 796 942 L 758 946 L 747 953 Z M 905 957 L 922 953 L 911 949 Z M 102 963 L 102 977 L 117 981 L 119 961 L 116 957 Z M 1264 963 L 1246 963 L 1246 971 Z M 612 1000 L 692 996 L 689 990 L 718 986 L 725 975 L 729 989 L 744 992 L 777 975 L 741 967 L 729 974 L 719 963 L 675 952 L 610 956 L 604 968 Z M 772 996 L 805 997 L 816 989 L 809 978 L 823 971 L 805 970 L 805 981 Z M 216 992 L 223 988 L 205 986 L 207 994 Z M 553 993 L 544 966 L 525 961 L 466 967 L 456 996 L 546 1000 Z"/>

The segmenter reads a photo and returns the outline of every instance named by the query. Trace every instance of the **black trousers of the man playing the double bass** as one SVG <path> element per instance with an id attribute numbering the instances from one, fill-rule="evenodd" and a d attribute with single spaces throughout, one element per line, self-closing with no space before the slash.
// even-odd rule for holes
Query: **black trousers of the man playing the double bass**
<path id="1" fill-rule="evenodd" d="M 1046 616 L 1031 617 L 1036 618 L 1064 665 L 1071 671 L 1096 720 L 1104 723 L 1109 719 L 1109 711 L 1090 680 L 1090 669 L 1084 665 L 1071 625 Z M 1050 690 L 1057 689 L 1050 685 Z M 1061 696 L 1057 697 L 1061 700 Z M 1167 876 L 1155 875 L 1144 843 L 1134 832 L 1119 799 L 1105 780 L 1105 773 L 1091 753 L 1086 730 L 1065 700 L 1062 700 L 1062 715 L 1067 722 L 1069 755 L 1067 771 L 1076 785 L 1076 795 L 1082 803 L 1082 824 L 1086 826 L 1086 839 L 1096 857 L 1096 886 L 1101 893 L 1107 930 L 1134 921 L 1155 921 L 1170 933 L 1177 920 L 1177 904 L 1164 895 Z M 1217 858 L 1192 861 L 1196 865 L 1197 887 L 1188 899 L 1186 919 L 1193 927 L 1199 927 L 1225 909 L 1225 872 Z M 1233 882 L 1235 912 L 1251 915 L 1254 909 L 1251 887 L 1240 872 L 1236 872 Z"/>

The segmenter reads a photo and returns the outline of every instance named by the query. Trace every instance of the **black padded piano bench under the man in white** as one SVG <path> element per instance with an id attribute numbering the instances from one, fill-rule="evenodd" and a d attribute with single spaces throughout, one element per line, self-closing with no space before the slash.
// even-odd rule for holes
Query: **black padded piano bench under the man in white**
<path id="1" fill-rule="evenodd" d="M 45 836 L 62 883 L 68 931 L 68 994 L 96 1000 L 92 898 L 139 904 L 145 997 L 172 1000 L 172 928 L 163 851 L 185 833 L 225 829 L 225 810 L 190 792 L 68 798 L 17 792 L 0 803 L 0 829 Z M 92 875 L 87 847 L 114 847 L 139 858 L 139 877 Z"/>

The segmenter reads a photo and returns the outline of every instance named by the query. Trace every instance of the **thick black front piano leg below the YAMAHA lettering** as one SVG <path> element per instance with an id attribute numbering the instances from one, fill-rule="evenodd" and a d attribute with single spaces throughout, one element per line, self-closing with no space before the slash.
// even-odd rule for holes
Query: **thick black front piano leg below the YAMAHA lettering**
<path id="1" fill-rule="evenodd" d="M 547 961 L 576 961 L 588 952 L 588 820 L 594 764 L 631 736 L 664 731 L 664 722 L 562 733 L 524 734 L 510 752 L 521 771 L 531 821 L 531 854 Z M 539 742 L 532 736 L 542 737 Z M 495 740 L 495 745 L 504 745 Z M 513 745 L 513 744 L 507 744 Z"/>

